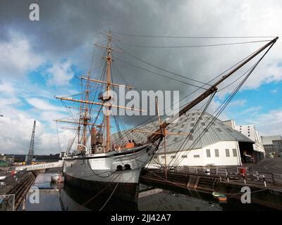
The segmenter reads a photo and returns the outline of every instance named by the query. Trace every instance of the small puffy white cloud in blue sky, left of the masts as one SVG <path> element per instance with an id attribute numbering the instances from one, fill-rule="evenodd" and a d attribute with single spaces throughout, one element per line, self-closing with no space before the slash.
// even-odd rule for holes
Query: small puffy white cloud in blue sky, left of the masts
<path id="1" fill-rule="evenodd" d="M 54 63 L 51 68 L 47 69 L 47 75 L 49 77 L 49 84 L 57 86 L 68 84 L 74 76 L 73 70 L 71 69 L 71 62 L 67 60 L 64 63 Z"/>

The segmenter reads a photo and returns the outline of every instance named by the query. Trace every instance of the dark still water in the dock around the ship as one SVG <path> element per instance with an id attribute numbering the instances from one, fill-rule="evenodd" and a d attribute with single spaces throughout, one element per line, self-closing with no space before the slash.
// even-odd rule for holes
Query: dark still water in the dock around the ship
<path id="1" fill-rule="evenodd" d="M 25 206 L 18 210 L 27 211 L 80 211 L 80 210 L 119 210 L 119 211 L 224 211 L 224 210 L 273 210 L 256 204 L 242 204 L 240 200 L 229 199 L 219 203 L 210 193 L 190 191 L 188 194 L 169 191 L 164 188 L 148 187 L 140 184 L 137 203 L 109 199 L 97 193 L 85 193 L 71 186 L 52 184 L 51 175 L 56 172 L 39 174 L 35 184 L 27 193 Z M 34 188 L 37 187 L 37 188 Z M 39 192 L 39 198 L 35 196 Z M 96 196 L 97 195 L 97 196 Z M 36 203 L 36 200 L 39 200 Z"/>

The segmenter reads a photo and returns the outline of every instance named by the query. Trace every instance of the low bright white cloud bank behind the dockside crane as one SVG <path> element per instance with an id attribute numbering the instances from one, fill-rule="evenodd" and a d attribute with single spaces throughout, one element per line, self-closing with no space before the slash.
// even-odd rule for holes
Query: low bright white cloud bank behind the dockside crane
<path id="1" fill-rule="evenodd" d="M 16 110 L 8 110 L 0 118 L 0 153 L 27 154 L 35 118 Z M 59 129 L 61 149 L 66 149 L 68 141 L 73 138 L 73 132 Z M 47 127 L 37 120 L 35 128 L 35 154 L 43 155 L 59 153 L 58 136 L 47 132 Z"/>

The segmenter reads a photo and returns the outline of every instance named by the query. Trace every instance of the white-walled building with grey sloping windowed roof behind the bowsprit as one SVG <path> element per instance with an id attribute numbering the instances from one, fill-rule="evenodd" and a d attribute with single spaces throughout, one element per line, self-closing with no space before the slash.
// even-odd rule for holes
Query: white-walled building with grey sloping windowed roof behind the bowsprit
<path id="1" fill-rule="evenodd" d="M 166 136 L 166 164 L 171 166 L 233 166 L 241 165 L 241 155 L 253 155 L 254 141 L 240 132 L 231 129 L 221 120 L 215 119 L 209 113 L 192 110 L 182 115 L 179 121 L 168 127 L 168 133 L 179 135 Z M 200 121 L 195 127 L 197 120 Z M 213 120 L 212 126 L 207 129 Z M 135 127 L 143 131 L 155 131 L 159 128 L 157 121 Z M 194 131 L 193 131 L 194 129 Z M 124 132 L 124 131 L 123 131 Z M 122 132 L 122 133 L 123 133 Z M 192 136 L 180 135 L 192 132 Z M 198 137 L 203 136 L 198 139 Z M 114 134 L 113 141 L 118 140 L 119 134 Z M 124 135 L 124 134 L 122 134 Z M 142 143 L 149 134 L 132 132 L 135 143 Z M 165 164 L 164 141 L 152 160 L 152 164 Z"/>

